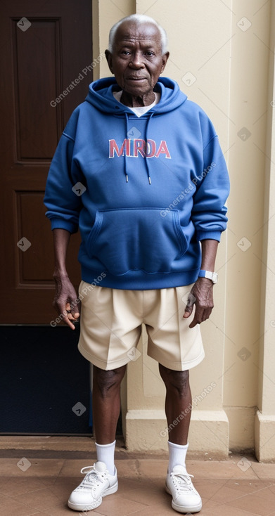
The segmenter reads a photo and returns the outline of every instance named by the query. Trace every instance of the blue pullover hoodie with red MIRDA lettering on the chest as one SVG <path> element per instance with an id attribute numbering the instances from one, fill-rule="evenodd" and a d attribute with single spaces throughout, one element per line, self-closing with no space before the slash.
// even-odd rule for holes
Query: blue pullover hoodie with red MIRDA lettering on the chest
<path id="1" fill-rule="evenodd" d="M 82 279 L 127 290 L 196 281 L 200 240 L 226 228 L 229 176 L 205 112 L 162 77 L 145 115 L 118 102 L 113 77 L 89 86 L 46 183 L 51 228 L 79 230 Z M 104 274 L 103 274 L 104 273 Z"/>

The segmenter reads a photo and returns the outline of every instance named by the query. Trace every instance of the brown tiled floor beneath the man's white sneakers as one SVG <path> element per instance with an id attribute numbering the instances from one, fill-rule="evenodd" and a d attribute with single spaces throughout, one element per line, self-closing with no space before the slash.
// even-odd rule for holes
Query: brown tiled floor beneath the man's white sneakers
<path id="1" fill-rule="evenodd" d="M 96 510 L 79 513 L 67 507 L 68 496 L 82 478 L 79 470 L 94 463 L 93 459 L 72 458 L 69 452 L 62 456 L 61 452 L 27 450 L 5 451 L 3 456 L 0 516 L 177 514 L 164 490 L 166 459 L 117 453 L 117 493 L 103 499 Z M 201 516 L 275 516 L 275 464 L 231 455 L 222 461 L 188 460 L 187 469 L 203 498 Z"/>

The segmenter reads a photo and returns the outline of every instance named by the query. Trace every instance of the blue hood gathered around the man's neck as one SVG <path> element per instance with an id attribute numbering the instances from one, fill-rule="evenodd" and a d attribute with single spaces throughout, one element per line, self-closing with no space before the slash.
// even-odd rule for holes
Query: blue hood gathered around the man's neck
<path id="1" fill-rule="evenodd" d="M 89 93 L 85 101 L 94 105 L 95 108 L 108 112 L 112 115 L 122 115 L 125 112 L 132 113 L 132 110 L 118 102 L 113 96 L 114 91 L 120 91 L 114 77 L 98 79 L 89 85 Z M 158 115 L 161 113 L 173 111 L 179 108 L 186 101 L 187 96 L 179 89 L 177 82 L 168 77 L 159 77 L 154 91 L 158 91 L 161 95 L 160 103 L 153 106 L 150 113 Z"/>

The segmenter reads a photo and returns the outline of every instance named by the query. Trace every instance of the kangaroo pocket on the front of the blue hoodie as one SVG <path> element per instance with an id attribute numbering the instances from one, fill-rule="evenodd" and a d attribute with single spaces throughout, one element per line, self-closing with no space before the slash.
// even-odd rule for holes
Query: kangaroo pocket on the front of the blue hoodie
<path id="1" fill-rule="evenodd" d="M 177 209 L 99 209 L 86 248 L 116 276 L 136 269 L 168 273 L 186 252 L 187 240 Z"/>

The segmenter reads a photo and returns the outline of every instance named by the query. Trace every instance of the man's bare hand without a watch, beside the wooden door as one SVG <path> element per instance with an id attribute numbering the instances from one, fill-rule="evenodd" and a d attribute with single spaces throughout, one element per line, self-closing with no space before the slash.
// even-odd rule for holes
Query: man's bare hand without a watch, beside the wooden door
<path id="1" fill-rule="evenodd" d="M 62 316 L 63 321 L 75 330 L 72 323 L 79 318 L 79 302 L 77 303 L 77 294 L 75 288 L 70 282 L 67 275 L 53 274 L 56 282 L 56 295 L 53 300 L 53 307 Z"/>

